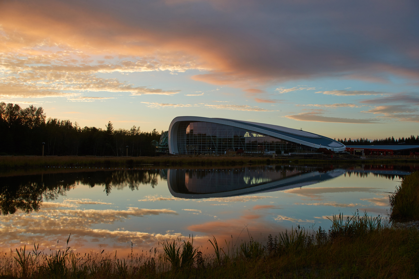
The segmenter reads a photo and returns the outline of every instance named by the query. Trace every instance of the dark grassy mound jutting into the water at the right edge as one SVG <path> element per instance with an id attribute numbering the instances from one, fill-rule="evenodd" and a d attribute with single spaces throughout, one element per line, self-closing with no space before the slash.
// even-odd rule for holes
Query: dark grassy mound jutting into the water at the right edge
<path id="1" fill-rule="evenodd" d="M 391 220 L 419 220 L 419 171 L 404 177 L 389 199 Z"/>

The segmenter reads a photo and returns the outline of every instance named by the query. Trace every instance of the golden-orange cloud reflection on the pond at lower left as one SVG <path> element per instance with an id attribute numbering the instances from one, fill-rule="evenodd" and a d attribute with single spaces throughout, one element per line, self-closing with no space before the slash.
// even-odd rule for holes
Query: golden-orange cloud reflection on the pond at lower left
<path id="1" fill-rule="evenodd" d="M 69 202 L 70 201 L 70 202 Z M 83 203 L 83 200 L 82 204 Z M 74 203 L 75 202 L 75 203 Z M 178 215 L 170 209 L 144 209 L 128 207 L 127 210 L 95 210 L 95 209 L 62 209 L 72 207 L 78 200 L 67 200 L 67 202 L 45 202 L 41 210 L 26 214 L 19 212 L 14 215 L 1 216 L 0 243 L 8 247 L 12 243 L 40 243 L 41 246 L 51 248 L 56 239 L 66 238 L 70 233 L 75 246 L 88 245 L 89 241 L 103 242 L 113 246 L 119 246 L 120 242 L 127 239 L 135 243 L 150 244 L 163 239 L 176 238 L 175 234 L 142 233 L 129 230 L 107 230 L 93 228 L 97 224 L 113 224 L 117 221 L 124 221 L 131 217 L 142 217 L 145 215 L 172 214 Z M 88 202 L 88 201 L 87 201 Z M 88 202 L 88 204 L 90 204 Z M 103 204 L 103 203 L 99 203 Z M 107 203 L 104 203 L 107 204 Z M 86 238 L 91 238 L 86 239 Z M 55 239 L 51 243 L 51 239 Z M 18 240 L 18 241 L 17 241 Z M 112 241 L 110 241 L 112 240 Z"/>

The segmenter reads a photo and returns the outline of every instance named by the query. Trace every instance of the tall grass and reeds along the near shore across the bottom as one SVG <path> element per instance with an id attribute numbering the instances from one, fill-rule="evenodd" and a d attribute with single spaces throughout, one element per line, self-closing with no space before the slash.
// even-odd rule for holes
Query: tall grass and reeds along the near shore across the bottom
<path id="1" fill-rule="evenodd" d="M 26 247 L 0 259 L 1 278 L 418 278 L 419 233 L 394 230 L 381 218 L 343 215 L 326 232 L 292 228 L 269 235 L 266 245 L 209 240 L 203 255 L 193 241 L 168 242 L 151 256 L 126 259 L 98 252 L 80 255 L 69 247 L 51 255 Z M 68 245 L 69 239 L 67 239 Z"/>

